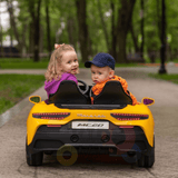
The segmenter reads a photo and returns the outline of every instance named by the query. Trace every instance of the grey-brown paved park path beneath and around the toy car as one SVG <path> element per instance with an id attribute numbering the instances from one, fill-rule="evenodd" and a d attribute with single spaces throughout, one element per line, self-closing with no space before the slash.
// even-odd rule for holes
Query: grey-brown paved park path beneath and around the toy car
<path id="1" fill-rule="evenodd" d="M 159 68 L 151 68 L 157 72 Z M 4 117 L 10 120 L 0 128 L 0 178 L 177 178 L 178 177 L 178 85 L 148 78 L 144 69 L 118 68 L 116 75 L 125 78 L 128 89 L 140 101 L 142 97 L 155 98 L 156 103 L 150 107 L 155 117 L 156 135 L 156 162 L 151 169 L 138 168 L 137 166 L 111 164 L 111 162 L 77 162 L 71 167 L 63 167 L 51 157 L 44 158 L 42 167 L 29 167 L 26 164 L 26 119 L 32 107 L 28 98 L 23 99 Z M 1 70 L 0 70 L 1 71 Z M 26 70 L 27 71 L 27 70 Z M 38 70 L 39 71 L 39 70 Z M 37 71 L 37 72 L 38 72 Z M 78 79 L 91 83 L 90 71 L 81 69 Z M 150 70 L 149 70 L 150 71 Z M 177 68 L 172 69 L 175 73 Z M 41 70 L 41 73 L 44 72 Z M 148 71 L 147 71 L 148 72 Z M 33 71 L 33 73 L 36 73 Z M 47 95 L 41 87 L 32 95 L 40 95 L 42 99 Z"/>

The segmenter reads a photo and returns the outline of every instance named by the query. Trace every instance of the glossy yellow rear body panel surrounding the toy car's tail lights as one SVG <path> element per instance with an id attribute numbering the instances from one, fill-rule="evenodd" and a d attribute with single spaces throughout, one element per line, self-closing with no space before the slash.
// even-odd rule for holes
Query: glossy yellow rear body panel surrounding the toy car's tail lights
<path id="1" fill-rule="evenodd" d="M 48 119 L 39 119 L 33 118 L 32 113 L 55 113 L 55 112 L 69 112 L 70 116 L 66 117 L 62 120 L 48 120 Z M 111 113 L 135 113 L 135 115 L 148 115 L 148 119 L 145 120 L 117 120 L 111 116 Z M 144 105 L 130 106 L 128 105 L 123 109 L 60 109 L 56 107 L 53 103 L 47 105 L 44 101 L 36 103 L 28 117 L 27 120 L 27 145 L 30 145 L 37 129 L 43 125 L 66 125 L 72 120 L 108 120 L 116 126 L 138 126 L 140 127 L 149 145 L 154 146 L 154 117 L 149 108 Z"/>

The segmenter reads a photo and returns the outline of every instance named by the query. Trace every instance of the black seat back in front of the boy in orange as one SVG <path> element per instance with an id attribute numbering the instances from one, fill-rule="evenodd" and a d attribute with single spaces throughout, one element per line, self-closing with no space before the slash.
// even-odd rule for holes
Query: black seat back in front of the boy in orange
<path id="1" fill-rule="evenodd" d="M 102 91 L 95 97 L 95 105 L 132 105 L 132 99 L 127 95 L 119 81 L 106 82 Z"/>

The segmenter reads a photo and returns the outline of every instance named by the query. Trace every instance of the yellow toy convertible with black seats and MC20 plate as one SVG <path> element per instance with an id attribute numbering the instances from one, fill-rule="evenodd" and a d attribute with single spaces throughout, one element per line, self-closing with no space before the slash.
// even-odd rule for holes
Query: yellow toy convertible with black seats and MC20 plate
<path id="1" fill-rule="evenodd" d="M 155 122 L 148 106 L 154 99 L 132 106 L 120 82 L 108 81 L 91 105 L 91 86 L 82 83 L 62 81 L 48 101 L 29 98 L 34 106 L 27 120 L 27 164 L 40 166 L 43 154 L 51 154 L 69 166 L 78 155 L 95 154 L 152 167 Z"/>

